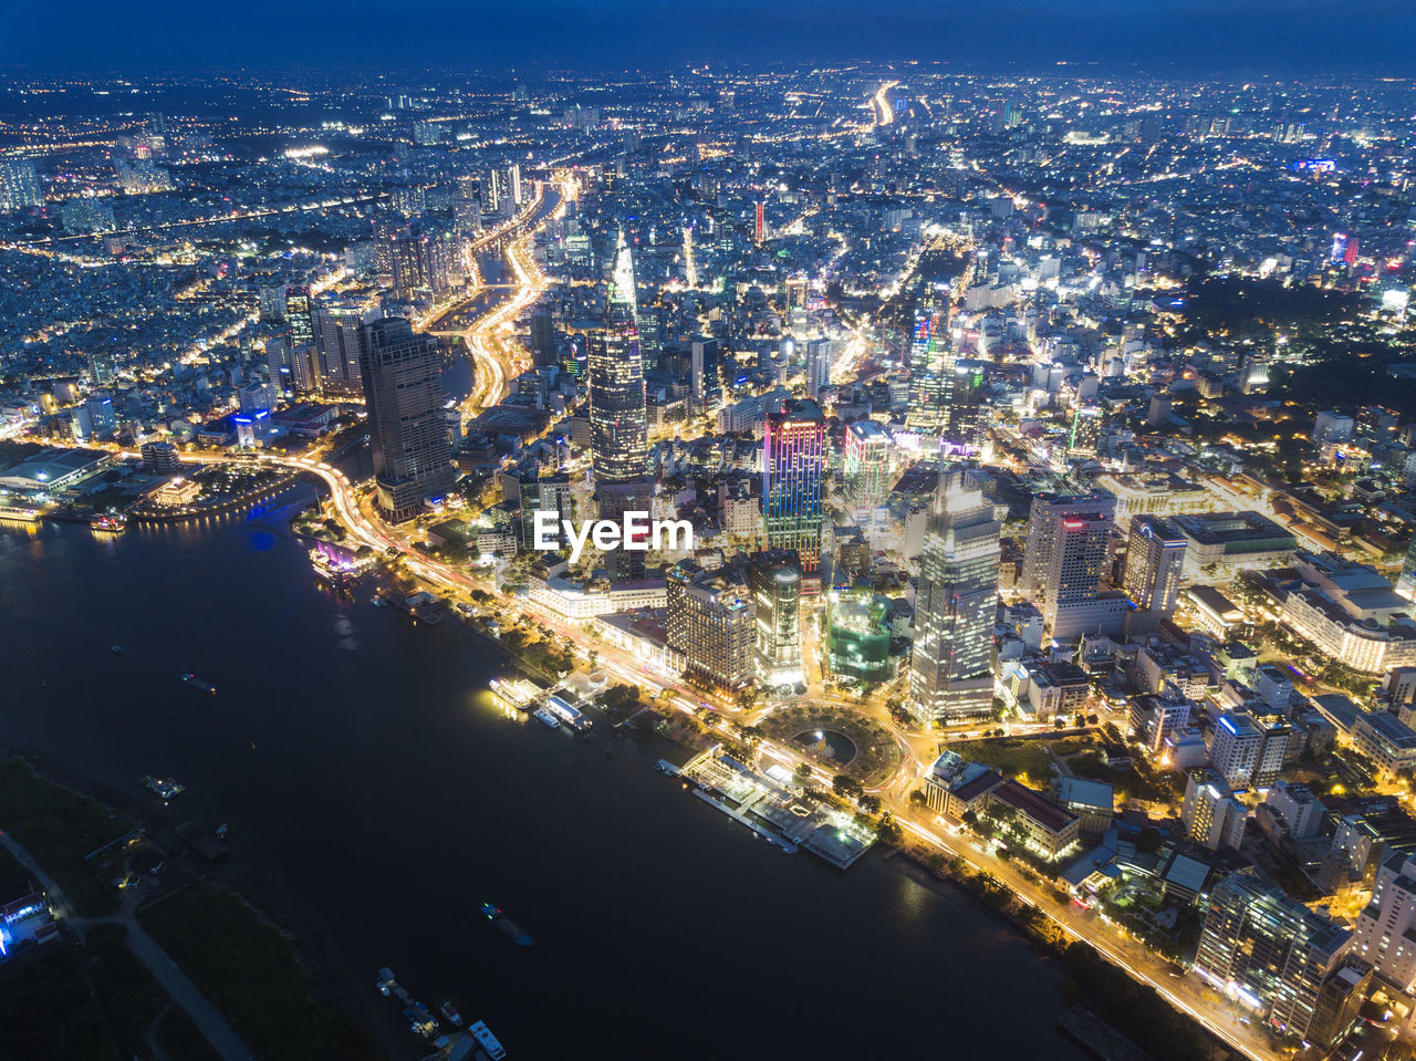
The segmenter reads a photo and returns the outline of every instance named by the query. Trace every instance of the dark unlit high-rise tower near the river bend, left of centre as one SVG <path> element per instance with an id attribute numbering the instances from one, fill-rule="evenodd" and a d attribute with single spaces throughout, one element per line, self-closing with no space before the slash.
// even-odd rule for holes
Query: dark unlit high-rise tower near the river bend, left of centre
<path id="1" fill-rule="evenodd" d="M 402 317 L 384 317 L 364 327 L 374 482 L 379 513 L 392 523 L 413 518 L 426 499 L 453 487 L 440 371 L 438 340 L 413 334 Z"/>

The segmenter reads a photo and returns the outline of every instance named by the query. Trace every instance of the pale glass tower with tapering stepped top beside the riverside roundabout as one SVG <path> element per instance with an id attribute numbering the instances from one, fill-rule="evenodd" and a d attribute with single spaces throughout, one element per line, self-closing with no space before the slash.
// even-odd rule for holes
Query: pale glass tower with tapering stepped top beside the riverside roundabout
<path id="1" fill-rule="evenodd" d="M 909 711 L 922 725 L 993 710 L 998 530 L 993 503 L 964 473 L 942 472 L 925 531 L 909 663 Z"/>

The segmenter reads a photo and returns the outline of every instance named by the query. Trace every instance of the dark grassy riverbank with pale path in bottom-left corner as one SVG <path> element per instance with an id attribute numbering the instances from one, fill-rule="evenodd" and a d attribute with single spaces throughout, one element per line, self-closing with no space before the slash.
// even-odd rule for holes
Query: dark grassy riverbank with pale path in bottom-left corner
<path id="1" fill-rule="evenodd" d="M 378 1061 L 372 1037 L 354 1010 L 340 1011 L 330 1004 L 321 983 L 333 983 L 303 955 L 296 936 L 244 900 L 229 883 L 219 881 L 210 867 L 170 844 L 170 823 L 157 816 L 143 800 L 106 789 L 112 802 L 98 802 L 85 795 L 82 782 L 68 772 L 65 782 L 45 776 L 35 768 L 38 754 L 20 758 L 13 751 L 0 764 L 0 822 L 21 841 L 35 861 L 55 877 L 75 912 L 88 917 L 112 914 L 118 892 L 103 888 L 103 881 L 82 866 L 86 849 L 99 834 L 140 833 L 153 846 L 156 864 L 150 877 L 132 881 L 143 900 L 137 918 L 177 966 L 227 1016 L 252 1044 L 262 1061 L 306 1061 L 330 1057 L 348 1061 Z M 99 788 L 99 786 L 95 786 Z M 20 823 L 18 829 L 16 823 Z M 95 833 L 99 830 L 99 833 Z M 164 847 L 152 837 L 164 837 Z M 160 853 L 160 854 L 157 854 Z M 10 860 L 13 861 L 13 860 Z M 18 884 L 28 880 L 18 864 L 6 864 L 0 880 Z M 0 902 L 17 895 L 0 895 Z M 78 922 L 84 925 L 84 921 Z M 17 996 L 13 986 L 28 977 L 33 966 L 44 969 L 41 982 L 54 977 L 68 990 L 47 993 L 42 1002 L 25 999 L 27 1014 L 35 1028 L 34 1050 L 27 1057 L 45 1058 L 159 1058 L 170 1061 L 210 1061 L 215 1051 L 197 1031 L 190 1017 L 174 1007 L 126 943 L 120 924 L 88 925 L 82 936 L 67 928 L 64 939 L 25 955 L 14 968 L 0 965 L 0 1019 Z M 75 965 L 78 951 L 81 960 Z M 88 968 L 92 966 L 92 968 Z M 88 1003 L 98 1003 L 91 1011 Z M 76 1009 L 76 1011 L 75 1011 Z M 44 1013 L 52 1019 L 41 1019 Z M 18 1016 L 18 1014 L 17 1014 Z M 71 1044 L 67 1028 L 88 1027 L 91 1053 L 82 1043 Z M 92 1027 L 98 1031 L 93 1031 Z M 10 1023 L 13 1027 L 13 1021 Z M 44 1036 L 48 1028 L 51 1037 Z M 157 1043 L 159 1050 L 153 1048 Z"/>

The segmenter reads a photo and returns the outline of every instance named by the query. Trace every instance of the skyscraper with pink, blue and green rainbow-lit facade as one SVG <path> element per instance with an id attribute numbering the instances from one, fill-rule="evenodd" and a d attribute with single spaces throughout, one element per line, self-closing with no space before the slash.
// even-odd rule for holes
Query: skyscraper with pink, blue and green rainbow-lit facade
<path id="1" fill-rule="evenodd" d="M 787 399 L 762 436 L 762 517 L 767 548 L 794 550 L 814 575 L 821 558 L 826 419 L 814 401 Z"/>

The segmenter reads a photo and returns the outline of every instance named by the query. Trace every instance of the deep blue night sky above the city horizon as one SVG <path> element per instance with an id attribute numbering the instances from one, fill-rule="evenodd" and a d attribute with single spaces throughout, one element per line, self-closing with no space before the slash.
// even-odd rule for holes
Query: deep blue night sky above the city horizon
<path id="1" fill-rule="evenodd" d="M 1416 76 L 1416 0 L 0 0 L 0 65 L 906 59 L 998 71 Z"/>

